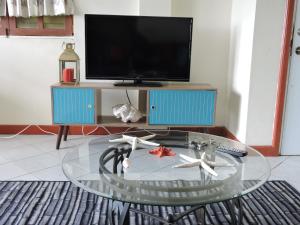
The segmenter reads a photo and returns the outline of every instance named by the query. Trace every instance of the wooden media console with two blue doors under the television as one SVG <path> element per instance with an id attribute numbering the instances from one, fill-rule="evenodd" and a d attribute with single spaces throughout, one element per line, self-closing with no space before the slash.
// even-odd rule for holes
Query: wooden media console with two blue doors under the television
<path id="1" fill-rule="evenodd" d="M 103 90 L 138 91 L 137 107 L 143 118 L 123 123 L 113 115 L 102 115 Z M 108 83 L 82 82 L 76 86 L 51 86 L 52 121 L 60 126 L 56 148 L 70 125 L 103 125 L 108 127 L 210 127 L 215 123 L 217 90 L 207 84 L 164 84 L 161 87 L 122 87 Z M 124 102 L 120 102 L 124 103 Z"/>

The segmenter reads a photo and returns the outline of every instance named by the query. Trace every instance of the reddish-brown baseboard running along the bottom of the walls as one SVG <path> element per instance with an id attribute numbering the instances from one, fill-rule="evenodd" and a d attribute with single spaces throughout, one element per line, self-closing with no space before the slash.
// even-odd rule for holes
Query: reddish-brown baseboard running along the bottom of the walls
<path id="1" fill-rule="evenodd" d="M 20 132 L 27 125 L 0 125 L 0 134 L 4 135 L 13 135 Z M 50 131 L 52 133 L 58 133 L 59 126 L 56 125 L 39 125 L 43 130 Z M 96 126 L 84 126 L 84 134 L 92 132 Z M 120 133 L 127 129 L 127 127 L 106 127 L 107 130 L 111 133 Z M 172 130 L 189 130 L 195 132 L 204 132 L 206 131 L 209 134 L 226 137 L 235 141 L 239 141 L 226 127 L 216 126 L 216 127 L 208 127 L 208 128 L 200 128 L 200 127 L 180 127 L 180 128 L 172 128 Z M 82 135 L 82 127 L 81 126 L 70 126 L 70 135 Z M 36 126 L 29 127 L 22 134 L 24 135 L 46 135 L 43 131 L 38 129 Z M 92 135 L 106 135 L 107 132 L 102 127 L 99 127 Z M 264 156 L 278 156 L 278 150 L 272 146 L 251 146 L 262 153 Z"/>

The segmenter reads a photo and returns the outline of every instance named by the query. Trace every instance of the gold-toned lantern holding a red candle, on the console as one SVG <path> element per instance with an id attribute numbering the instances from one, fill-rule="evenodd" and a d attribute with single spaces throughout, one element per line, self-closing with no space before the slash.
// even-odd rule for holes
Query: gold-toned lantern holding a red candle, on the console
<path id="1" fill-rule="evenodd" d="M 75 44 L 67 43 L 59 57 L 59 81 L 63 84 L 79 83 L 79 56 L 74 51 Z"/>

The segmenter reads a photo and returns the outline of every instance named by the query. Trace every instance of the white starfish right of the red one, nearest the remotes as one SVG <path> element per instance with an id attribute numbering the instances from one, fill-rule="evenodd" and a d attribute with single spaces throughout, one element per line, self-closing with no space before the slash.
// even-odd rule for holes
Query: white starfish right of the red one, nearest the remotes
<path id="1" fill-rule="evenodd" d="M 173 166 L 173 168 L 190 168 L 190 167 L 195 167 L 195 166 L 201 166 L 203 169 L 205 169 L 207 172 L 214 176 L 218 176 L 218 174 L 210 167 L 226 167 L 226 166 L 234 166 L 233 164 L 229 163 L 217 163 L 213 161 L 209 161 L 205 157 L 205 152 L 202 153 L 200 159 L 195 159 L 183 154 L 179 154 L 179 157 L 183 158 L 184 160 L 188 161 L 188 163 L 183 163 L 179 165 Z"/>

